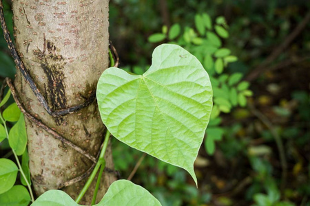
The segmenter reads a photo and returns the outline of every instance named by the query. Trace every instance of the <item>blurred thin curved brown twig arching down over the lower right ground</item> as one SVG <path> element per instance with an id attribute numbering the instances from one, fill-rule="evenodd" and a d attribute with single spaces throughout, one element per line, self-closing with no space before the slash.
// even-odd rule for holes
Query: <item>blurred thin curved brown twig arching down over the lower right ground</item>
<path id="1" fill-rule="evenodd" d="M 281 190 L 281 192 L 283 192 L 283 190 L 285 189 L 286 181 L 287 181 L 287 159 L 285 157 L 285 150 L 283 147 L 282 139 L 278 135 L 276 130 L 274 130 L 273 124 L 269 121 L 269 119 L 267 117 L 265 117 L 265 115 L 263 115 L 260 111 L 258 111 L 256 108 L 254 108 L 253 105 L 249 104 L 249 109 L 250 109 L 251 113 L 253 113 L 256 117 L 258 117 L 258 119 L 260 119 L 260 121 L 263 124 L 265 124 L 265 126 L 267 126 L 267 128 L 271 132 L 271 135 L 273 136 L 273 138 L 276 141 L 276 145 L 278 147 L 278 152 L 279 152 L 279 156 L 280 156 L 281 168 L 282 168 L 282 181 L 281 181 L 281 185 L 280 185 L 280 190 Z"/>

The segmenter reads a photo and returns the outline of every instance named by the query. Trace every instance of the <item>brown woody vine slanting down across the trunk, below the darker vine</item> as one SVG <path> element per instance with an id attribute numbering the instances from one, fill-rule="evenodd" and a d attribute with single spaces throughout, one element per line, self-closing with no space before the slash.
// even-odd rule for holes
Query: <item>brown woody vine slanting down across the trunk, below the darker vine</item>
<path id="1" fill-rule="evenodd" d="M 63 138 L 61 135 L 59 135 L 58 133 L 56 133 L 54 130 L 52 130 L 51 128 L 49 128 L 48 126 L 46 126 L 45 124 L 43 124 L 39 119 L 37 119 L 36 117 L 30 115 L 30 113 L 28 113 L 27 111 L 25 111 L 25 108 L 23 108 L 23 104 L 21 104 L 21 102 L 19 101 L 19 97 L 16 93 L 15 87 L 12 84 L 12 81 L 9 78 L 6 78 L 6 84 L 8 84 L 8 87 L 10 87 L 11 89 L 11 93 L 12 96 L 17 104 L 17 106 L 19 106 L 19 109 L 21 110 L 22 113 L 24 113 L 24 115 L 30 119 L 32 122 L 34 122 L 35 124 L 37 124 L 38 126 L 40 126 L 41 128 L 43 128 L 45 131 L 47 131 L 48 133 L 50 133 L 55 139 L 58 139 L 59 141 L 61 141 L 61 143 L 65 144 L 66 146 L 69 146 L 70 148 L 76 150 L 76 152 L 81 153 L 82 155 L 84 155 L 85 157 L 87 157 L 87 159 L 90 159 L 91 161 L 93 161 L 94 163 L 96 162 L 96 158 L 94 158 L 92 155 L 90 155 L 88 152 L 86 152 L 85 150 L 83 150 L 82 148 L 80 148 L 79 146 L 76 146 L 75 144 L 73 144 L 71 141 L 69 141 L 68 139 Z"/>

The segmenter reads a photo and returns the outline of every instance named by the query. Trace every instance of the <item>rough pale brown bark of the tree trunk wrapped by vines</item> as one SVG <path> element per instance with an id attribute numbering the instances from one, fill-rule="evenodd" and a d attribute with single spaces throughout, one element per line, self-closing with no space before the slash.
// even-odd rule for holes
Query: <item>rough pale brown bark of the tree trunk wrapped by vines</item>
<path id="1" fill-rule="evenodd" d="M 81 104 L 96 90 L 99 76 L 109 66 L 108 0 L 14 0 L 17 50 L 50 108 Z M 104 126 L 96 102 L 70 115 L 52 117 L 17 72 L 15 86 L 25 108 L 44 124 L 96 157 Z M 37 195 L 83 174 L 92 162 L 61 144 L 26 119 L 30 172 Z M 106 167 L 113 168 L 108 148 Z M 105 172 L 97 199 L 116 178 Z M 65 187 L 76 198 L 85 181 Z M 90 203 L 92 191 L 83 203 Z M 82 203 L 82 202 L 81 202 Z"/>

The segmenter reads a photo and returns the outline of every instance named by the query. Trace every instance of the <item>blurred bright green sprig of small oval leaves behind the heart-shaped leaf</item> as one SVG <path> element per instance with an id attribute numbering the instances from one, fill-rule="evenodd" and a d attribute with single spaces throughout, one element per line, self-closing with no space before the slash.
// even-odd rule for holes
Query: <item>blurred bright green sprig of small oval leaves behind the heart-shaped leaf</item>
<path id="1" fill-rule="evenodd" d="M 222 139 L 225 133 L 224 128 L 220 127 L 220 113 L 230 113 L 236 106 L 245 107 L 247 97 L 253 93 L 249 90 L 249 82 L 242 81 L 242 73 L 230 74 L 229 71 L 225 71 L 229 63 L 238 60 L 236 56 L 231 55 L 230 49 L 223 47 L 222 41 L 229 37 L 225 18 L 218 16 L 215 23 L 212 23 L 207 13 L 196 14 L 194 23 L 195 28 L 182 28 L 180 24 L 175 23 L 169 32 L 164 25 L 161 33 L 152 34 L 148 40 L 150 43 L 167 41 L 185 47 L 198 58 L 209 73 L 214 91 L 214 106 L 206 131 L 205 149 L 212 155 L 215 141 Z"/>

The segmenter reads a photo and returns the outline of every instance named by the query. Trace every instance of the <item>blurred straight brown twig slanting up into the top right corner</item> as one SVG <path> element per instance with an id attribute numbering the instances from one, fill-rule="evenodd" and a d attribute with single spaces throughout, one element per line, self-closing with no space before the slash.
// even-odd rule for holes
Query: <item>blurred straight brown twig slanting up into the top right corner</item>
<path id="1" fill-rule="evenodd" d="M 276 49 L 273 50 L 273 52 L 267 57 L 265 61 L 263 61 L 260 65 L 258 65 L 258 67 L 256 67 L 256 69 L 254 69 L 247 75 L 245 80 L 254 80 L 258 76 L 260 76 L 260 73 L 264 73 L 265 71 L 267 71 L 267 69 L 269 69 L 267 66 L 271 62 L 273 62 L 273 60 L 275 60 L 283 52 L 283 50 L 286 49 L 293 42 L 293 40 L 302 32 L 302 30 L 304 30 L 309 21 L 310 12 L 308 12 L 307 15 L 304 16 L 304 19 L 297 25 L 295 30 L 293 30 L 293 32 L 291 32 L 291 34 L 289 34 L 289 36 L 285 38 L 285 41 L 283 41 L 281 45 L 276 47 Z"/>

